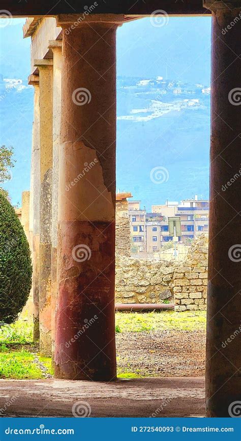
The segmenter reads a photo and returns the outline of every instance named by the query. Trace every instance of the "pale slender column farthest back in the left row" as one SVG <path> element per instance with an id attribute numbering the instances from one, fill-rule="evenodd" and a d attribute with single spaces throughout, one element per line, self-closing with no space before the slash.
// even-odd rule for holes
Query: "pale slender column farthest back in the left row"
<path id="1" fill-rule="evenodd" d="M 29 75 L 28 84 L 34 86 L 34 123 L 31 161 L 31 190 L 29 201 L 29 229 L 32 230 L 33 262 L 33 320 L 34 342 L 39 340 L 39 217 L 40 217 L 40 136 L 39 136 L 39 76 Z"/>

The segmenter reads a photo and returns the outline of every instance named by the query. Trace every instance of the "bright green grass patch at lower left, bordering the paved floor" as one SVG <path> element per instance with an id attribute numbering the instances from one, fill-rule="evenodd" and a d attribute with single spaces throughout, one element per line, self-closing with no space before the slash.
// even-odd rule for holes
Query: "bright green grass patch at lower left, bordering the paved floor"
<path id="1" fill-rule="evenodd" d="M 37 379 L 43 378 L 41 370 L 35 364 L 35 356 L 22 348 L 20 351 L 0 352 L 0 378 Z"/>

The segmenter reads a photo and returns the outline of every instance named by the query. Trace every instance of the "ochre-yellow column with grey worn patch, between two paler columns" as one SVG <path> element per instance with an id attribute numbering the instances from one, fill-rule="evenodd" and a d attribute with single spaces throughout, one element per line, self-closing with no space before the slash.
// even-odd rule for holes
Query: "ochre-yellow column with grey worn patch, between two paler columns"
<path id="1" fill-rule="evenodd" d="M 53 162 L 53 60 L 35 60 L 40 104 L 40 352 L 51 355 L 51 232 Z"/>

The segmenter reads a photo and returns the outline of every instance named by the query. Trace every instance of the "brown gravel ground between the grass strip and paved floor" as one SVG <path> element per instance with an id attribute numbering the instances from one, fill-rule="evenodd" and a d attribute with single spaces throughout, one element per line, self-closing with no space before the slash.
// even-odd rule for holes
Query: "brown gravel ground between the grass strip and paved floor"
<path id="1" fill-rule="evenodd" d="M 162 330 L 116 334 L 117 368 L 138 376 L 204 375 L 205 332 Z"/>

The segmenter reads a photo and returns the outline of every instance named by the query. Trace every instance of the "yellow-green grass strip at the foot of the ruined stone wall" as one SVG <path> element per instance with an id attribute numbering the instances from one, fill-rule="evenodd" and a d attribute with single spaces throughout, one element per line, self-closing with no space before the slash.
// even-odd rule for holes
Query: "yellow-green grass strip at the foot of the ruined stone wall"
<path id="1" fill-rule="evenodd" d="M 116 332 L 155 332 L 156 330 L 204 330 L 206 311 L 117 312 Z"/>

